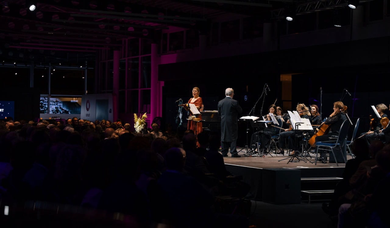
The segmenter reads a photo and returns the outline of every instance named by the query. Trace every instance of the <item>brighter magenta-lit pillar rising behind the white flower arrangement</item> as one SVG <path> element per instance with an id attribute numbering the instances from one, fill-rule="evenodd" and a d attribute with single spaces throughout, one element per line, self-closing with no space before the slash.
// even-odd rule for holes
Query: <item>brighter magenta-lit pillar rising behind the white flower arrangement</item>
<path id="1" fill-rule="evenodd" d="M 162 87 L 164 82 L 158 81 L 158 64 L 160 59 L 157 57 L 157 44 L 152 44 L 151 53 L 151 105 L 150 120 L 157 116 L 162 116 Z"/>

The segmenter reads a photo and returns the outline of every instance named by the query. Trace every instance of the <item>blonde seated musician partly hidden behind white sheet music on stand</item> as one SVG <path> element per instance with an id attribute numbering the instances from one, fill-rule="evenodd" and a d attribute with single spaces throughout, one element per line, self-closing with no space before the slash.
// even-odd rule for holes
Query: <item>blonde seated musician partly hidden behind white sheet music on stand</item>
<path id="1" fill-rule="evenodd" d="M 301 118 L 304 119 L 310 119 L 310 111 L 309 108 L 304 104 L 304 103 L 298 103 L 296 106 L 296 111 L 299 113 Z M 290 120 L 287 121 L 289 125 L 291 125 Z M 277 151 L 277 154 L 284 154 L 284 147 L 285 147 L 285 142 L 288 139 L 289 142 L 289 148 L 292 149 L 294 148 L 294 137 L 295 137 L 295 131 L 293 128 L 290 126 L 288 129 L 284 129 L 284 132 L 279 133 L 279 147 L 280 149 Z M 292 153 L 290 153 L 290 156 L 293 156 L 295 151 L 293 150 Z"/>

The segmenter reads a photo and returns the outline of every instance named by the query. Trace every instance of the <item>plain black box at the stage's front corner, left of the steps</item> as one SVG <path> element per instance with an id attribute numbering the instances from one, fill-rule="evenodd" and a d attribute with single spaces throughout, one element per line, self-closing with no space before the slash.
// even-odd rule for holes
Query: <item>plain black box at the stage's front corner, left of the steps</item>
<path id="1" fill-rule="evenodd" d="M 275 204 L 301 203 L 301 170 L 263 169 L 262 201 Z"/>

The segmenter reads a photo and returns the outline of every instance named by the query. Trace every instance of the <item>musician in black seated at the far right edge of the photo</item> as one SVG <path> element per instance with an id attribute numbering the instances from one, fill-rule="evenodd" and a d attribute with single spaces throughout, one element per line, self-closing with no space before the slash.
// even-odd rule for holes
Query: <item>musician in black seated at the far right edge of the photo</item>
<path id="1" fill-rule="evenodd" d="M 381 116 L 381 119 L 388 118 L 387 114 L 385 113 L 388 110 L 388 107 L 383 104 L 377 104 L 375 106 L 376 110 L 379 113 L 379 116 Z M 390 142 L 390 128 L 386 128 L 386 126 L 383 126 L 381 121 L 376 121 L 375 128 L 378 130 L 369 131 L 367 132 L 365 138 L 367 142 L 370 144 L 372 140 L 381 140 L 383 143 Z M 388 138 L 386 140 L 386 138 Z"/>

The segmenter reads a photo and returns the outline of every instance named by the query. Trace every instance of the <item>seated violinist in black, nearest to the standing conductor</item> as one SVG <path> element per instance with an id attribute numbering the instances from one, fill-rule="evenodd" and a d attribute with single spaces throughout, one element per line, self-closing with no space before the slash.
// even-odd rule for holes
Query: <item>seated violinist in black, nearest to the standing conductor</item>
<path id="1" fill-rule="evenodd" d="M 272 113 L 274 114 L 275 116 L 277 116 L 277 113 L 276 113 L 276 105 L 270 105 L 269 106 L 269 113 Z M 269 114 L 267 114 L 266 116 L 264 116 L 264 120 L 266 121 L 272 121 L 271 119 L 271 116 L 269 116 Z M 282 127 L 282 120 L 277 118 L 277 121 L 278 121 L 278 125 L 276 125 L 277 127 Z M 261 130 L 259 132 L 255 132 L 252 134 L 252 137 L 251 137 L 251 142 L 252 142 L 252 145 L 255 144 L 256 140 L 257 139 L 257 136 L 259 137 L 259 142 L 261 143 L 261 146 L 263 149 L 268 149 L 269 147 L 269 142 L 271 141 L 271 137 L 273 135 L 276 135 L 277 133 L 279 133 L 279 128 L 276 128 L 275 127 L 275 124 L 270 122 L 270 123 L 267 123 L 268 127 L 264 128 L 264 130 Z"/>

